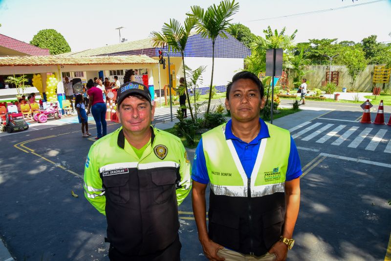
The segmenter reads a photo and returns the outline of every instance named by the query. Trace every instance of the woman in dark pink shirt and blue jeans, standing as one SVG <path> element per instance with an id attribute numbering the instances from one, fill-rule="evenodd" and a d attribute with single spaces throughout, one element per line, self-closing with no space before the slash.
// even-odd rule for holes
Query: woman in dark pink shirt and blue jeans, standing
<path id="1" fill-rule="evenodd" d="M 94 86 L 92 79 L 87 82 L 87 94 L 89 97 L 87 115 L 91 111 L 96 124 L 96 131 L 98 132 L 95 139 L 100 139 L 107 134 L 106 123 L 106 104 L 103 100 L 102 90 Z"/>

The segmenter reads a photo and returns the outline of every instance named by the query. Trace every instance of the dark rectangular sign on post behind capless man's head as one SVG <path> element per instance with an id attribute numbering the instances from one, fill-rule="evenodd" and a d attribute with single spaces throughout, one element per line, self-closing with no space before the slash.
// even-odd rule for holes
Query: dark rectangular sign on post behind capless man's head
<path id="1" fill-rule="evenodd" d="M 278 48 L 278 49 L 274 48 L 274 49 L 267 49 L 266 50 L 266 76 L 272 76 L 270 123 L 273 124 L 274 77 L 281 77 L 282 76 L 282 49 L 281 48 Z"/>

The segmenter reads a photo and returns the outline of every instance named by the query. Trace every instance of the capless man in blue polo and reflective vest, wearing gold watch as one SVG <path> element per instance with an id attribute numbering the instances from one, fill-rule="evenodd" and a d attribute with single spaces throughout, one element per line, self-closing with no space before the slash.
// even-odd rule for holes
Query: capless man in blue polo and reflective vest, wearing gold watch
<path id="1" fill-rule="evenodd" d="M 293 246 L 300 158 L 289 131 L 259 118 L 264 103 L 256 75 L 234 75 L 225 101 L 232 120 L 204 133 L 195 151 L 193 211 L 209 260 L 283 261 Z"/>

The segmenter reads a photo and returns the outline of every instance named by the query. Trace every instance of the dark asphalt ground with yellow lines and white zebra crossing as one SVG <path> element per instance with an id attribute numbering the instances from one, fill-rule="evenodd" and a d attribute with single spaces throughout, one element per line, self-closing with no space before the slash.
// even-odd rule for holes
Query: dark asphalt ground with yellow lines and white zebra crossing
<path id="1" fill-rule="evenodd" d="M 385 108 L 387 120 L 390 112 Z M 391 126 L 360 124 L 361 114 L 355 104 L 308 102 L 305 110 L 274 121 L 291 131 L 304 171 L 288 260 L 390 260 Z M 51 124 L 0 136 L 0 235 L 18 260 L 108 260 L 106 220 L 83 196 L 84 161 L 93 141 L 82 138 L 79 128 Z M 179 211 L 182 260 L 205 260 L 190 196 Z"/>

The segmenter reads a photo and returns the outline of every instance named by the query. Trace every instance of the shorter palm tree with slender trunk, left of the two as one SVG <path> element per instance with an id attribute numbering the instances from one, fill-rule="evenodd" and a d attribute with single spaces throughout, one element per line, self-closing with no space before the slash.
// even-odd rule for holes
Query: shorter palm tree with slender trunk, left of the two
<path id="1" fill-rule="evenodd" d="M 153 46 L 155 47 L 164 47 L 168 45 L 168 50 L 172 48 L 173 52 L 180 52 L 182 56 L 183 63 L 183 75 L 185 78 L 185 89 L 187 101 L 189 104 L 190 114 L 192 116 L 192 120 L 194 121 L 193 109 L 190 104 L 189 92 L 187 90 L 187 82 L 186 82 L 186 70 L 185 70 L 185 47 L 187 40 L 190 37 L 190 32 L 194 28 L 196 19 L 192 17 L 188 17 L 185 19 L 184 26 L 175 19 L 170 19 L 170 23 L 164 23 L 162 27 L 162 32 L 151 33 Z"/>

